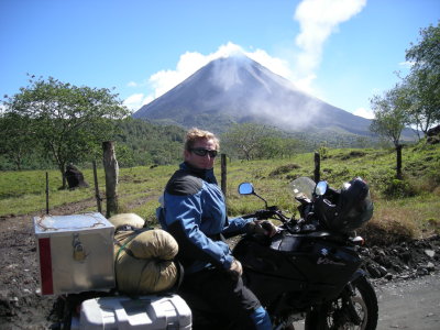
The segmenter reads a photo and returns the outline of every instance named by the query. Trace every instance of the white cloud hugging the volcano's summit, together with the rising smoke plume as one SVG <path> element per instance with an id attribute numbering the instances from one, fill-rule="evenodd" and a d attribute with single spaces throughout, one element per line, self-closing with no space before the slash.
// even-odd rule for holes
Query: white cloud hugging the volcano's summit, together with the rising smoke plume
<path id="1" fill-rule="evenodd" d="M 242 46 L 229 42 L 208 55 L 186 52 L 180 55 L 176 68 L 153 74 L 146 79 L 146 84 L 145 81 L 129 82 L 130 87 L 146 85 L 151 92 L 147 96 L 133 95 L 124 103 L 131 105 L 131 109 L 136 110 L 132 107 L 158 98 L 209 62 L 237 53 L 242 53 L 275 74 L 288 78 L 304 91 L 314 94 L 311 85 L 317 78 L 316 70 L 321 62 L 323 43 L 338 30 L 340 23 L 359 13 L 365 3 L 366 0 L 304 0 L 300 2 L 294 16 L 300 25 L 300 33 L 296 38 L 299 53 L 294 56 L 293 66 L 285 59 L 271 56 L 264 50 L 248 52 Z"/>

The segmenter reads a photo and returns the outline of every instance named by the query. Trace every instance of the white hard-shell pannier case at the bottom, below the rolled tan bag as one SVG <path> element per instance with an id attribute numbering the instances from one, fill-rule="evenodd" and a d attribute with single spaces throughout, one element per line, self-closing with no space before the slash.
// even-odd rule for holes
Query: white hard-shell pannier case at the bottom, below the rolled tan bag
<path id="1" fill-rule="evenodd" d="M 189 330 L 191 311 L 178 295 L 103 297 L 82 301 L 81 330 Z"/>

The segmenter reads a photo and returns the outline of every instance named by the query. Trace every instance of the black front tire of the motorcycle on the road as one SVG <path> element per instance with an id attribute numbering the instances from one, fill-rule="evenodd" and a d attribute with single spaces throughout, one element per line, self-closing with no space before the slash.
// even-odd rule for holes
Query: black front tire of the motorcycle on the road
<path id="1" fill-rule="evenodd" d="M 377 327 L 377 297 L 371 283 L 361 276 L 352 283 L 354 296 L 344 293 L 338 299 L 314 307 L 306 316 L 306 330 L 356 329 L 374 330 Z M 348 293 L 348 288 L 344 288 Z M 361 324 L 350 320 L 346 298 L 351 299 L 361 319 Z"/>

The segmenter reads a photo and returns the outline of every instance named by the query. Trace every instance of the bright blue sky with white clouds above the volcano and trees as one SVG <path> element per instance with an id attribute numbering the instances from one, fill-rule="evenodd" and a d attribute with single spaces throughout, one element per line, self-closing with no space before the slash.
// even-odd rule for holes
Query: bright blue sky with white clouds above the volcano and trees
<path id="1" fill-rule="evenodd" d="M 138 110 L 240 51 L 371 117 L 370 98 L 408 72 L 405 50 L 439 19 L 440 0 L 0 0 L 0 97 L 29 73 L 114 87 Z"/>

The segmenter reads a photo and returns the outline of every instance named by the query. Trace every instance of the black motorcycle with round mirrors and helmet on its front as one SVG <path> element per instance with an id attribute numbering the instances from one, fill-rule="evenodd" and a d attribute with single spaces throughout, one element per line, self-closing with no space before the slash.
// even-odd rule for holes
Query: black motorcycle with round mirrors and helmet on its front
<path id="1" fill-rule="evenodd" d="M 363 239 L 353 232 L 372 216 L 367 186 L 356 178 L 334 190 L 326 182 L 316 185 L 305 177 L 292 186 L 300 204 L 299 219 L 268 207 L 252 184 L 239 186 L 241 195 L 265 202 L 265 209 L 245 218 L 282 223 L 272 238 L 245 234 L 234 246 L 244 284 L 268 311 L 273 329 L 292 329 L 293 322 L 302 319 L 306 330 L 376 329 L 377 298 L 358 253 Z M 193 312 L 196 324 L 204 311 Z M 209 328 L 202 329 L 216 329 L 212 317 Z"/>

